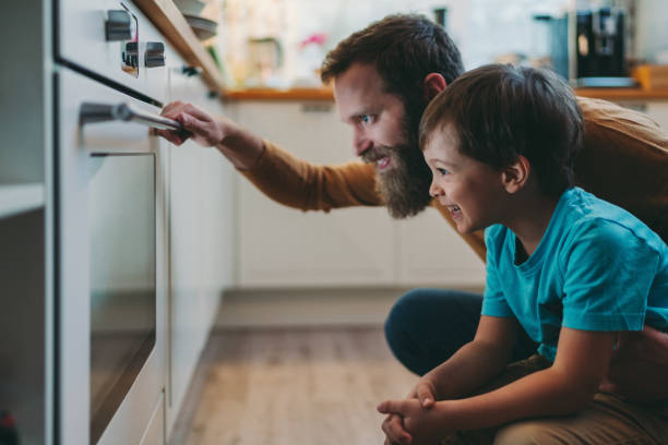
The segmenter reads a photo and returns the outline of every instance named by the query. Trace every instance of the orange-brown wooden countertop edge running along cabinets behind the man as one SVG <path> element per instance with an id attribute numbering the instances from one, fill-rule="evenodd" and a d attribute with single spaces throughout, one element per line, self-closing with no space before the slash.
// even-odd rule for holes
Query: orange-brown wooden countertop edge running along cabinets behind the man
<path id="1" fill-rule="evenodd" d="M 192 67 L 202 69 L 210 88 L 226 100 L 333 100 L 332 88 L 247 88 L 228 89 L 213 58 L 194 35 L 171 0 L 134 0 L 153 24 Z M 642 88 L 576 88 L 578 96 L 608 100 L 668 100 L 668 89 Z"/>

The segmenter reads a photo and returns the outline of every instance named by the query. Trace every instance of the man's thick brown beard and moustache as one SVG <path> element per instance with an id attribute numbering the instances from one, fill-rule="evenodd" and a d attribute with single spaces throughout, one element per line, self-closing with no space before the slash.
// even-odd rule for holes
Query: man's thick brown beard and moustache
<path id="1" fill-rule="evenodd" d="M 381 195 L 390 216 L 395 219 L 415 216 L 431 202 L 431 170 L 422 157 L 417 133 L 406 131 L 404 141 L 393 146 L 375 146 L 362 155 L 367 163 L 383 156 L 390 157 L 392 166 L 375 172 L 375 191 Z"/>

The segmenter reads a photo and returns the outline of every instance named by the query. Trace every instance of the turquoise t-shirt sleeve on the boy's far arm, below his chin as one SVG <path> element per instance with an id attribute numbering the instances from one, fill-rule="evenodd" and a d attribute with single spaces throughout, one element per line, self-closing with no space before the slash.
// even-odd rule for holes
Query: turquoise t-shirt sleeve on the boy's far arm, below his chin
<path id="1" fill-rule="evenodd" d="M 515 316 L 505 301 L 499 279 L 498 256 L 502 248 L 502 232 L 500 226 L 492 226 L 485 230 L 485 244 L 487 245 L 487 280 L 482 298 L 482 315 L 513 317 Z"/>

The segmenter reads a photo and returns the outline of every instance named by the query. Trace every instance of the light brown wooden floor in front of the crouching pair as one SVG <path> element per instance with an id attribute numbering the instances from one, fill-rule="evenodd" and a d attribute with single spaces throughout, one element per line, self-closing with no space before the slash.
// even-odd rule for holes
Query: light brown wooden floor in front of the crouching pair
<path id="1" fill-rule="evenodd" d="M 385 398 L 416 382 L 380 327 L 214 334 L 172 445 L 382 444 Z"/>

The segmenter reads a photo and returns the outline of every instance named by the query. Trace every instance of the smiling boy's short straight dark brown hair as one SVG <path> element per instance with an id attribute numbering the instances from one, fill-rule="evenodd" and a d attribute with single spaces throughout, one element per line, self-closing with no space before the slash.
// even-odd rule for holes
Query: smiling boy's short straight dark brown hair
<path id="1" fill-rule="evenodd" d="M 553 72 L 503 64 L 472 70 L 425 110 L 420 147 L 449 123 L 464 155 L 499 170 L 522 155 L 545 194 L 560 195 L 573 187 L 582 111 L 571 88 Z"/>

